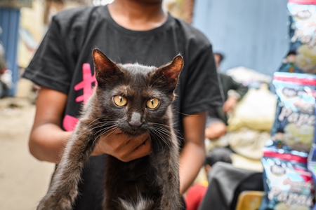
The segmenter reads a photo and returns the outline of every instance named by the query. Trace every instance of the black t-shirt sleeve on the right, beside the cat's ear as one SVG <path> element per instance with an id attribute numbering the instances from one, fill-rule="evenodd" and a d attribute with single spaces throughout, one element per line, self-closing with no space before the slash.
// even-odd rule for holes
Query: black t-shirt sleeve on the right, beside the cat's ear
<path id="1" fill-rule="evenodd" d="M 223 104 L 211 45 L 196 54 L 185 84 L 183 113 L 209 111 Z"/>

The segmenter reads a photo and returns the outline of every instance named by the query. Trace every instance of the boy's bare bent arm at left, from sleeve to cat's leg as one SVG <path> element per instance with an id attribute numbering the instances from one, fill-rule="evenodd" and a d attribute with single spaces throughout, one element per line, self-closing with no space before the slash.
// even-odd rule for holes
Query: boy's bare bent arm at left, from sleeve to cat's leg
<path id="1" fill-rule="evenodd" d="M 62 113 L 67 95 L 41 87 L 37 97 L 37 110 L 29 137 L 29 151 L 38 160 L 60 162 L 60 157 L 71 132 L 61 129 Z"/>

